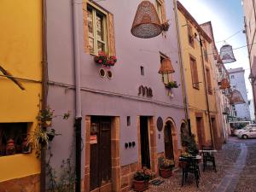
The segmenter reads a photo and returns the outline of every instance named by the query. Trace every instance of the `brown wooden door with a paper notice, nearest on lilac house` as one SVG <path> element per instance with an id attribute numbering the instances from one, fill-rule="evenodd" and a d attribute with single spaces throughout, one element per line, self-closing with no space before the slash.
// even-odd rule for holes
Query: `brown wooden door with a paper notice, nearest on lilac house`
<path id="1" fill-rule="evenodd" d="M 91 117 L 90 190 L 111 182 L 111 119 Z"/>

